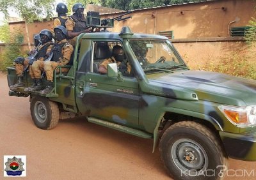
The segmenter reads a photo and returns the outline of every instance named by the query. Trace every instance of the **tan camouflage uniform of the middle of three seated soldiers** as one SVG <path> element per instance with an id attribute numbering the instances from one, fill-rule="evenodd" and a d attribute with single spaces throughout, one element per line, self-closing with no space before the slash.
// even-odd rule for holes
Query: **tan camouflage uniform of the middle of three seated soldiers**
<path id="1" fill-rule="evenodd" d="M 45 43 L 44 45 L 40 45 L 39 49 L 42 49 L 43 47 L 47 46 L 47 50 L 45 52 L 45 54 L 49 54 L 52 50 L 52 42 L 49 41 L 47 43 Z M 35 79 L 40 79 L 41 78 L 41 72 L 44 71 L 44 60 L 45 60 L 45 56 L 44 57 L 40 57 L 38 58 L 36 61 L 33 62 L 32 66 L 31 66 L 31 70 L 33 71 L 33 77 L 31 76 L 31 78 L 35 78 Z M 29 69 L 29 73 L 30 73 L 30 69 Z"/>

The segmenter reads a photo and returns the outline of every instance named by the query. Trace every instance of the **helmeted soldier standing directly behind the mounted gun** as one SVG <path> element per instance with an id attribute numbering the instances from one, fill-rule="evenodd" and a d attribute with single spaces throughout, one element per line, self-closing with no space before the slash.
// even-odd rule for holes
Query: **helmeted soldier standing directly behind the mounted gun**
<path id="1" fill-rule="evenodd" d="M 76 45 L 76 37 L 81 33 L 91 33 L 89 29 L 86 29 L 86 19 L 84 18 L 84 6 L 81 3 L 76 3 L 72 7 L 74 12 L 72 16 L 66 21 L 66 28 L 68 31 L 68 37 L 70 44 Z"/>

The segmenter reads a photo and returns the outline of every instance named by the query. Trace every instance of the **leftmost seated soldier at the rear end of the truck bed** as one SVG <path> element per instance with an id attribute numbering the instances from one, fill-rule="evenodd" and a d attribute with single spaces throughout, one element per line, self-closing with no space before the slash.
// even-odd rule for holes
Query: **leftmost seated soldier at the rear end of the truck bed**
<path id="1" fill-rule="evenodd" d="M 14 84 L 13 86 L 10 86 L 10 89 L 16 89 L 17 87 L 24 87 L 23 71 L 24 71 L 24 68 L 26 68 L 29 64 L 29 58 L 40 58 L 40 57 L 45 56 L 45 53 L 42 53 L 42 45 L 40 45 L 40 41 L 41 41 L 40 35 L 36 34 L 34 36 L 35 45 L 34 45 L 33 49 L 31 50 L 31 52 L 29 52 L 29 57 L 26 57 L 25 59 L 24 59 L 24 57 L 17 57 L 14 60 L 18 80 L 17 80 L 16 84 Z M 33 57 L 33 55 L 35 57 Z M 33 79 L 34 76 L 33 76 L 33 71 L 31 69 L 31 66 L 29 66 L 29 75 Z"/>

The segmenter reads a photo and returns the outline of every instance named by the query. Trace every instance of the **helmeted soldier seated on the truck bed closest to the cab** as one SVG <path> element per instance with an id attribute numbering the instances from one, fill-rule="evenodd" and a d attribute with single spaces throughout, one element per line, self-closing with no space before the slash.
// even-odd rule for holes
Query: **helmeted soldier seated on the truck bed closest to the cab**
<path id="1" fill-rule="evenodd" d="M 54 28 L 55 40 L 54 47 L 52 50 L 52 59 L 51 61 L 44 62 L 44 70 L 47 79 L 47 85 L 45 89 L 40 91 L 40 93 L 48 94 L 51 92 L 54 84 L 53 80 L 53 71 L 57 66 L 65 66 L 70 61 L 70 56 L 73 52 L 73 46 L 70 45 L 67 41 L 67 29 L 63 26 L 57 26 Z M 61 68 L 65 71 L 65 68 Z"/>

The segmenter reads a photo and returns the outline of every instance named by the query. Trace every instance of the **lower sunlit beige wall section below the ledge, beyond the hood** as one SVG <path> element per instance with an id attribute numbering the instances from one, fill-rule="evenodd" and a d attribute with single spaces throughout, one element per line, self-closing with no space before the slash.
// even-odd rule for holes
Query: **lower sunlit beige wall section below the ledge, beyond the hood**
<path id="1" fill-rule="evenodd" d="M 248 61 L 255 61 L 255 49 L 249 48 L 244 41 L 174 42 L 173 45 L 193 69 L 202 69 L 206 63 L 218 64 L 234 56 L 242 59 L 251 57 Z"/>

